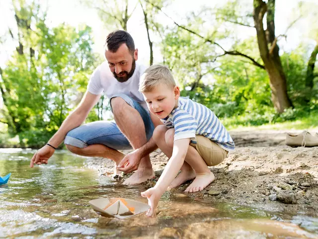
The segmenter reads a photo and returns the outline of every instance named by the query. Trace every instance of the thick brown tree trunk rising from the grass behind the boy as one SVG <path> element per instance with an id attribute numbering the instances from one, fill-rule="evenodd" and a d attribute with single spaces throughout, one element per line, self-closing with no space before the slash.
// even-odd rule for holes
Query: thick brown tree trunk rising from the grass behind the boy
<path id="1" fill-rule="evenodd" d="M 285 109 L 292 107 L 287 95 L 286 76 L 280 61 L 279 48 L 275 38 L 275 0 L 268 0 L 266 4 L 262 0 L 253 0 L 254 24 L 257 34 L 260 56 L 264 62 L 265 70 L 270 80 L 272 102 L 277 112 L 282 113 Z M 267 29 L 263 26 L 263 18 L 267 11 Z M 268 45 L 271 44 L 271 49 Z"/>

